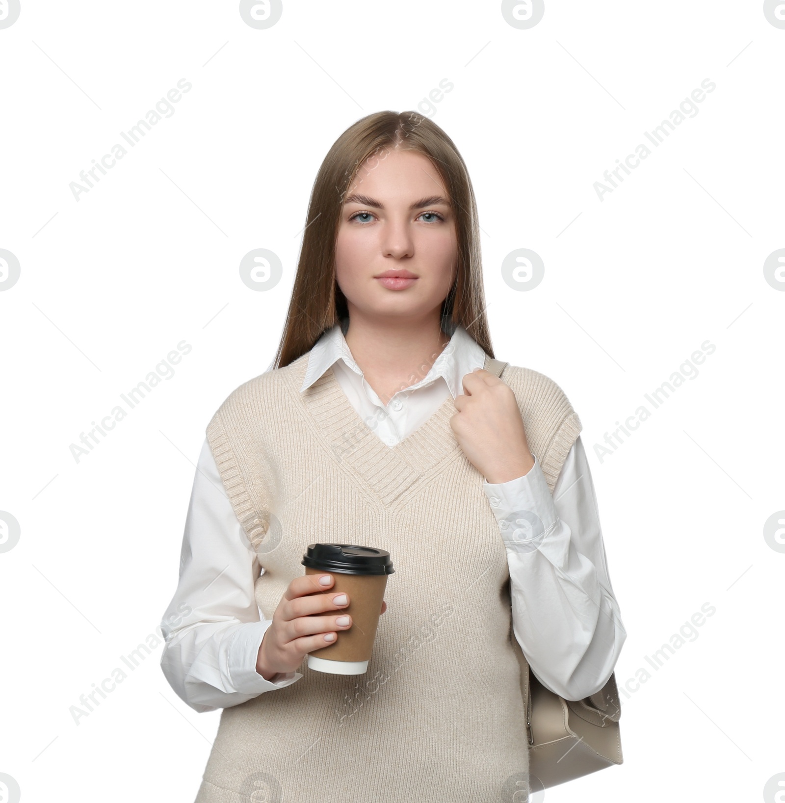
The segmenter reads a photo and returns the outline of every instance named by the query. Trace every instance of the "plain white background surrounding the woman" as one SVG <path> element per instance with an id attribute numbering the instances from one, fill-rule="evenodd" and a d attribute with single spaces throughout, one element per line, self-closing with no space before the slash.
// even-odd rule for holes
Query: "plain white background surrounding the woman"
<path id="1" fill-rule="evenodd" d="M 785 247 L 783 67 L 757 0 L 548 0 L 525 30 L 499 2 L 287 0 L 256 30 L 236 2 L 22 0 L 0 30 L 0 248 L 21 266 L 0 292 L 0 511 L 21 528 L 0 554 L 0 773 L 22 801 L 193 801 L 220 712 L 174 695 L 160 642 L 133 672 L 121 655 L 174 593 L 207 422 L 272 363 L 321 160 L 382 109 L 455 141 L 496 356 L 552 377 L 583 422 L 628 631 L 625 760 L 546 800 L 759 800 L 785 772 L 785 554 L 763 536 L 785 508 L 785 292 L 763 274 Z M 76 201 L 70 182 L 183 78 Z M 704 79 L 697 114 L 601 201 L 595 181 Z M 284 266 L 268 291 L 239 279 L 254 248 Z M 545 263 L 530 291 L 501 275 L 517 248 Z M 182 340 L 174 377 L 77 463 L 70 445 Z M 697 377 L 601 462 L 705 340 Z M 645 656 L 707 602 L 655 671 Z"/>

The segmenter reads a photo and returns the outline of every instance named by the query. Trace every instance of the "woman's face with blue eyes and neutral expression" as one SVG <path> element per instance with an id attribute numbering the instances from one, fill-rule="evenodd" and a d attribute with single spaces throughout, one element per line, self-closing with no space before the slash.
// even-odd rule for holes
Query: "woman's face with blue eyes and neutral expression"
<path id="1" fill-rule="evenodd" d="M 388 149 L 358 170 L 345 194 L 335 249 L 350 318 L 438 316 L 456 277 L 449 201 L 439 173 L 420 153 Z"/>

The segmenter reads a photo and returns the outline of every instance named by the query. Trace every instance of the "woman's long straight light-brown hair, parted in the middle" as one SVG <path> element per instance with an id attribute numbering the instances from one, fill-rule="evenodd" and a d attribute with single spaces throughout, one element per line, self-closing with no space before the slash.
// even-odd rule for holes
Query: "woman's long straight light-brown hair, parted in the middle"
<path id="1" fill-rule="evenodd" d="M 457 238 L 456 279 L 442 302 L 442 325 L 447 332 L 462 325 L 489 357 L 494 356 L 485 317 L 476 201 L 464 160 L 450 137 L 428 117 L 417 112 L 375 112 L 337 138 L 313 182 L 276 368 L 313 349 L 327 329 L 348 315 L 335 278 L 343 198 L 362 165 L 390 148 L 421 153 L 439 171 L 452 202 Z"/>

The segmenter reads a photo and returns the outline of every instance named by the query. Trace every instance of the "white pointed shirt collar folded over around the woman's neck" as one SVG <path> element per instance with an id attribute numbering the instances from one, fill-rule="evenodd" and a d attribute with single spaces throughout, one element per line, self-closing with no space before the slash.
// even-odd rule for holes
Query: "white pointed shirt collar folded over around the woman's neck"
<path id="1" fill-rule="evenodd" d="M 333 328 L 328 329 L 311 349 L 301 392 L 313 385 L 337 360 L 343 360 L 354 373 L 362 376 L 362 370 L 354 361 L 343 336 L 341 324 L 335 324 Z M 484 350 L 466 329 L 458 324 L 450 342 L 439 357 L 436 357 L 430 371 L 423 379 L 411 385 L 411 389 L 427 385 L 437 377 L 444 377 L 452 397 L 455 398 L 464 392 L 462 382 L 464 376 L 477 368 L 483 368 L 484 365 Z"/>

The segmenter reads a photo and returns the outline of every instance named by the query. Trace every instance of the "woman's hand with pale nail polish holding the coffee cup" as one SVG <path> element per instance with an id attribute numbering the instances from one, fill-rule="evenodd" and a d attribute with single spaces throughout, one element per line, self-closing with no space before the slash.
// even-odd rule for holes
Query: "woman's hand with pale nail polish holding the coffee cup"
<path id="1" fill-rule="evenodd" d="M 350 629 L 352 618 L 341 613 L 350 603 L 349 596 L 327 593 L 333 583 L 331 574 L 304 574 L 289 583 L 256 657 L 256 671 L 265 680 L 279 672 L 295 671 L 307 654 L 334 644 L 338 632 Z M 381 613 L 386 609 L 387 603 L 382 601 Z"/>

